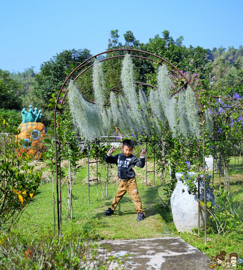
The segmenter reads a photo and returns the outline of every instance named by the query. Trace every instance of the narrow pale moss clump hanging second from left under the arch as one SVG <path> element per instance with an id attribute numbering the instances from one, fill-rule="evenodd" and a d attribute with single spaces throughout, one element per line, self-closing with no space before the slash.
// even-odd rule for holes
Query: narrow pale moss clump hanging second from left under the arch
<path id="1" fill-rule="evenodd" d="M 93 66 L 93 87 L 95 92 L 95 105 L 102 114 L 105 103 L 105 81 L 101 65 L 95 59 Z"/>

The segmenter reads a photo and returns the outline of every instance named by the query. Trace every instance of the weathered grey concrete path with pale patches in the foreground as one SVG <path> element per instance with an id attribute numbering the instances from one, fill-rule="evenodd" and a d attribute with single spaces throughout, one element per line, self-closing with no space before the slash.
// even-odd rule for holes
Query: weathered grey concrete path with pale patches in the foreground
<path id="1" fill-rule="evenodd" d="M 129 270 L 204 270 L 208 268 L 207 255 L 187 244 L 180 237 L 157 237 L 131 240 L 102 240 L 101 246 L 110 246 L 113 255 L 126 257 L 123 269 Z M 104 253 L 104 250 L 99 250 Z M 110 265 L 110 270 L 117 265 Z M 121 269 L 121 268 L 120 268 Z"/>

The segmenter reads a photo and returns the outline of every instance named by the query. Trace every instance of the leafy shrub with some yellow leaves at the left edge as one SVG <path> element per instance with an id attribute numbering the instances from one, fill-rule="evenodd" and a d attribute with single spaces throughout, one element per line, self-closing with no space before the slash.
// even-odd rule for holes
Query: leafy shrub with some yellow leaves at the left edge
<path id="1" fill-rule="evenodd" d="M 13 226 L 27 205 L 33 201 L 41 182 L 42 173 L 34 172 L 27 164 L 26 152 L 20 150 L 20 130 L 9 125 L 6 115 L 0 119 L 0 226 Z M 26 143 L 26 147 L 27 143 Z M 29 157 L 31 158 L 31 157 Z"/>

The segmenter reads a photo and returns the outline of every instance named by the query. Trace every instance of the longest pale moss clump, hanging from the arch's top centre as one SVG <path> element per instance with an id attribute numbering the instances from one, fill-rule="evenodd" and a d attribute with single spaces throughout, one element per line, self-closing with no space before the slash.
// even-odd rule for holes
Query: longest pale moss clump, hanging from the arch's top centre
<path id="1" fill-rule="evenodd" d="M 133 117 L 136 119 L 136 122 L 139 123 L 139 125 L 141 126 L 141 124 L 143 123 L 143 118 L 138 108 L 137 93 L 134 84 L 133 62 L 129 54 L 126 54 L 124 60 L 122 61 L 121 80 L 123 85 L 123 91 L 126 95 Z"/>

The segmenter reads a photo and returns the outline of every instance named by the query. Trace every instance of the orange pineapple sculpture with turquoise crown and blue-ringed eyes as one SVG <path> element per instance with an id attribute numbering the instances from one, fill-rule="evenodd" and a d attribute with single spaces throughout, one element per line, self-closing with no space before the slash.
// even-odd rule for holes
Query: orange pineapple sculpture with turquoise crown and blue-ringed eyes
<path id="1" fill-rule="evenodd" d="M 19 125 L 20 134 L 18 137 L 22 140 L 23 146 L 20 152 L 27 152 L 34 159 L 40 159 L 41 152 L 44 149 L 43 139 L 47 130 L 45 126 L 40 122 L 41 110 L 35 108 L 32 110 L 32 105 L 29 106 L 29 112 L 24 108 L 22 110 L 22 123 Z"/>

